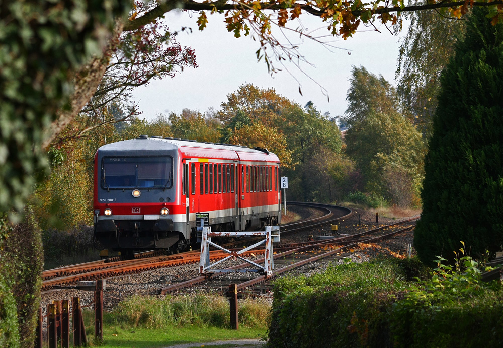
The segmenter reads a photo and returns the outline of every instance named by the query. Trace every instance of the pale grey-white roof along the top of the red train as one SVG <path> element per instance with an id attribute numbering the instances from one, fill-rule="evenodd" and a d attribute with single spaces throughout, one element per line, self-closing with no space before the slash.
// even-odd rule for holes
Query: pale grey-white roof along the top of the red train
<path id="1" fill-rule="evenodd" d="M 245 146 L 232 144 L 214 144 L 182 140 L 180 138 L 162 138 L 140 135 L 138 138 L 123 140 L 104 145 L 98 149 L 103 156 L 117 156 L 118 152 L 133 152 L 139 156 L 148 151 L 152 155 L 162 155 L 165 151 L 178 150 L 184 157 L 218 158 L 240 161 L 264 161 L 279 163 L 278 156 L 266 149 L 250 149 Z"/>

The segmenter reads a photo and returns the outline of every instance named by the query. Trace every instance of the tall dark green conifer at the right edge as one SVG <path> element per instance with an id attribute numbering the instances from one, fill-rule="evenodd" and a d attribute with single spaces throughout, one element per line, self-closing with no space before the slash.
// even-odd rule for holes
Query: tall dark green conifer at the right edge
<path id="1" fill-rule="evenodd" d="M 460 241 L 477 257 L 503 244 L 503 23 L 474 9 L 442 73 L 414 246 L 429 265 Z"/>

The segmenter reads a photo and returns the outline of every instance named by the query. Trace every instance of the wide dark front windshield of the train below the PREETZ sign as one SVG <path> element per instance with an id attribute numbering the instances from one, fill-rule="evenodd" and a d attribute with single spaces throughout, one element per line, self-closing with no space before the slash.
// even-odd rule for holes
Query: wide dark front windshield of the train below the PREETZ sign
<path id="1" fill-rule="evenodd" d="M 172 173 L 171 157 L 105 157 L 102 162 L 101 187 L 170 188 Z"/>

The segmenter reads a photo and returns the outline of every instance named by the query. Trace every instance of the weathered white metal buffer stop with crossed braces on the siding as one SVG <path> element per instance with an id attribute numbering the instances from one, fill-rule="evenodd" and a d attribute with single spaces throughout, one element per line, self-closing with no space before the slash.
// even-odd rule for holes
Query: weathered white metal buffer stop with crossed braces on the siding
<path id="1" fill-rule="evenodd" d="M 218 244 L 215 244 L 211 241 L 211 237 L 257 237 L 257 236 L 265 236 L 265 239 L 255 243 L 254 245 L 250 245 L 249 247 L 239 250 L 239 251 L 230 251 L 221 247 Z M 266 276 L 269 276 L 273 272 L 274 268 L 274 259 L 273 259 L 273 244 L 272 242 L 279 242 L 280 240 L 280 227 L 279 226 L 266 226 L 265 231 L 253 231 L 253 232 L 211 232 L 211 227 L 204 226 L 203 227 L 203 235 L 201 241 L 201 257 L 199 260 L 199 273 L 214 273 L 214 272 L 259 272 L 262 271 Z M 261 266 L 253 261 L 245 259 L 241 255 L 246 251 L 249 251 L 259 245 L 266 244 L 266 254 L 264 257 L 264 266 Z M 217 249 L 225 251 L 229 254 L 229 256 L 216 261 L 213 264 L 210 264 L 210 245 L 214 246 Z M 224 262 L 231 257 L 236 257 L 240 260 L 243 260 L 250 265 L 253 265 L 259 269 L 213 269 L 215 265 Z"/>

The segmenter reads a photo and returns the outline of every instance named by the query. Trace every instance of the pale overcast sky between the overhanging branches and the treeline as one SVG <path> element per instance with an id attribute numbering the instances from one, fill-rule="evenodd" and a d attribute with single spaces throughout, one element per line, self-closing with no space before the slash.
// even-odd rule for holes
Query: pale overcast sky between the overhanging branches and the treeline
<path id="1" fill-rule="evenodd" d="M 143 112 L 140 118 L 151 120 L 159 112 L 179 114 L 184 108 L 204 113 L 213 107 L 217 111 L 220 104 L 227 101 L 227 94 L 236 91 L 243 83 L 274 88 L 278 94 L 302 106 L 312 101 L 321 113 L 328 111 L 331 116 L 342 115 L 347 107 L 348 79 L 353 65 L 363 65 L 369 72 L 382 74 L 396 85 L 398 41 L 406 33 L 405 29 L 400 37 L 393 36 L 382 26 L 379 28 L 381 33 L 368 30 L 360 31 L 347 40 L 330 38 L 335 41 L 332 45 L 342 48 L 332 48 L 332 52 L 319 43 L 304 41 L 299 51 L 315 66 L 304 64 L 304 72 L 328 91 L 328 101 L 320 87 L 292 63 L 286 63 L 286 66 L 300 81 L 302 95 L 299 94 L 298 82 L 288 72 L 282 71 L 271 77 L 266 64 L 257 62 L 255 52 L 259 44 L 249 37 L 234 38 L 226 31 L 221 15 L 208 15 L 208 26 L 202 32 L 197 29 L 197 15 L 189 16 L 187 12 L 171 11 L 164 23 L 170 31 L 180 30 L 183 26 L 193 29 L 192 34 L 180 33 L 177 41 L 195 50 L 199 67 L 185 69 L 173 79 L 156 80 L 137 88 L 133 97 Z M 323 27 L 317 33 L 328 34 L 324 29 L 326 24 L 319 19 L 310 15 L 302 17 L 305 17 L 303 23 L 309 30 Z M 364 29 L 362 26 L 361 30 Z M 276 66 L 281 67 L 279 64 Z"/>

